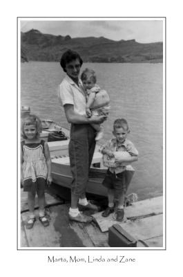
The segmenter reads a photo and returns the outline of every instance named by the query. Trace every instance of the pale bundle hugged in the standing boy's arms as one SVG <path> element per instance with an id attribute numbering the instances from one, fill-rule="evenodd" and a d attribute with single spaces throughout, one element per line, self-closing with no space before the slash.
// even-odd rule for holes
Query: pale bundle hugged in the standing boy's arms
<path id="1" fill-rule="evenodd" d="M 103 155 L 103 164 L 107 168 L 116 168 L 116 163 L 120 163 L 120 166 L 127 166 L 131 164 L 130 162 L 120 162 L 120 160 L 128 159 L 131 157 L 127 151 L 115 151 L 113 152 L 114 156 L 110 157 L 107 154 Z"/>

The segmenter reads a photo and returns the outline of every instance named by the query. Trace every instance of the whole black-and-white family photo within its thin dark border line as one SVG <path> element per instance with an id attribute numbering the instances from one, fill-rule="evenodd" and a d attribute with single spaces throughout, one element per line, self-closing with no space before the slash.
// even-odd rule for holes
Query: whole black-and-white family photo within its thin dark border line
<path id="1" fill-rule="evenodd" d="M 17 248 L 165 250 L 166 18 L 18 17 L 17 40 Z"/>

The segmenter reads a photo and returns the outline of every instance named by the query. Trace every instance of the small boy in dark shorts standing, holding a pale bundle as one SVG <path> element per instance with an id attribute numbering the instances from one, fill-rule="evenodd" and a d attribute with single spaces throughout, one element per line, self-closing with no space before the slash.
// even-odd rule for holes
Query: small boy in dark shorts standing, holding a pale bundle
<path id="1" fill-rule="evenodd" d="M 102 148 L 104 166 L 108 166 L 103 185 L 108 188 L 108 207 L 102 213 L 103 217 L 108 217 L 110 213 L 116 211 L 116 220 L 124 220 L 124 201 L 126 190 L 133 177 L 133 172 L 126 170 L 126 166 L 138 159 L 138 151 L 131 141 L 127 139 L 128 123 L 124 118 L 116 119 L 113 124 L 113 135 Z M 114 200 L 117 199 L 117 207 Z"/>

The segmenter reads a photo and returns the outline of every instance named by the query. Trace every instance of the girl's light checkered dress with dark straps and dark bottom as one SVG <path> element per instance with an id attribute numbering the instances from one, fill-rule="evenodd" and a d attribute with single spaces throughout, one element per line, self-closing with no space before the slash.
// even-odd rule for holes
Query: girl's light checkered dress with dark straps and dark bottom
<path id="1" fill-rule="evenodd" d="M 48 169 L 44 156 L 44 141 L 40 143 L 21 142 L 23 152 L 23 190 L 34 191 L 45 186 Z"/>

